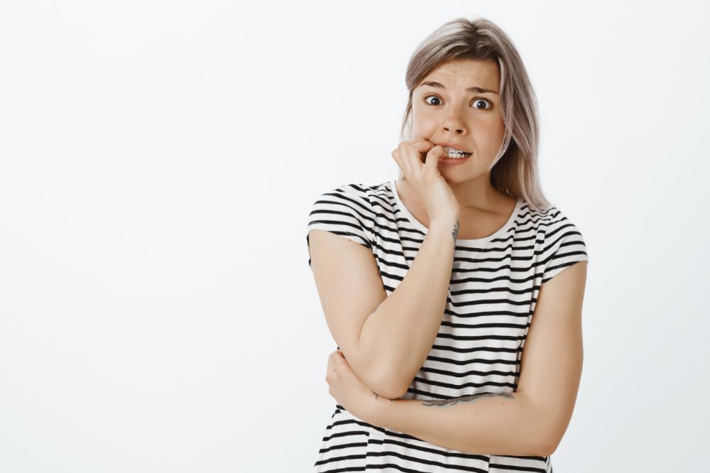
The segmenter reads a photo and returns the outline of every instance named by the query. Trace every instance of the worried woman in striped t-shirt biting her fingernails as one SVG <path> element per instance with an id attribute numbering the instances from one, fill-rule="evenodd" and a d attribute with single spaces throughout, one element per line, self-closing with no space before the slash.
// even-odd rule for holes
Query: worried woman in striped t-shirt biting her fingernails
<path id="1" fill-rule="evenodd" d="M 589 260 L 540 190 L 523 61 L 496 25 L 459 18 L 406 82 L 398 180 L 324 192 L 309 217 L 338 347 L 316 471 L 552 472 Z"/>

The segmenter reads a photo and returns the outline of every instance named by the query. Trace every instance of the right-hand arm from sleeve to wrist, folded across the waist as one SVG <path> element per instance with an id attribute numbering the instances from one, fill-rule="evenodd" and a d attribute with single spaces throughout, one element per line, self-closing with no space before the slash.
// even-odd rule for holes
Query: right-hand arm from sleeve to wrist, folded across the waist
<path id="1" fill-rule="evenodd" d="M 540 288 L 515 393 L 421 401 L 369 391 L 369 401 L 358 403 L 361 419 L 461 452 L 552 455 L 572 418 L 581 378 L 586 265 L 574 263 Z"/>

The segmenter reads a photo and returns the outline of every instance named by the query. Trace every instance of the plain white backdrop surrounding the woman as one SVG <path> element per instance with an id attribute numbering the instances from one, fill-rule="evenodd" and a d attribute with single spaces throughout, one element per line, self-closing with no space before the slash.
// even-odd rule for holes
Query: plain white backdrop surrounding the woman
<path id="1" fill-rule="evenodd" d="M 310 206 L 395 178 L 442 23 L 513 39 L 540 172 L 589 253 L 555 472 L 709 447 L 701 2 L 3 1 L 0 470 L 309 472 L 335 349 Z"/>

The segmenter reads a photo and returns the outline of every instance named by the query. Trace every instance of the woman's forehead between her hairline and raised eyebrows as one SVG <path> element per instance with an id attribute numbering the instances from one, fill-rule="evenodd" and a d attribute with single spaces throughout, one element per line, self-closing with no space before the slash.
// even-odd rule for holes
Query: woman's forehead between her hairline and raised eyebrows
<path id="1" fill-rule="evenodd" d="M 498 90 L 500 84 L 498 65 L 492 60 L 452 60 L 436 67 L 422 82 L 440 82 L 444 87 L 466 89 L 471 85 Z"/>

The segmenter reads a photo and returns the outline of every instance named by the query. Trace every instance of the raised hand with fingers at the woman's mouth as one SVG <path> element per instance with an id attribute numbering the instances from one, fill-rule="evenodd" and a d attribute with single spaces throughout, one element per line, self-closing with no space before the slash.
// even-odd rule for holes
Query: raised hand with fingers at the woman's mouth
<path id="1" fill-rule="evenodd" d="M 392 151 L 392 157 L 422 201 L 430 221 L 438 217 L 459 217 L 459 201 L 439 172 L 439 158 L 445 155 L 443 146 L 425 138 L 403 141 Z"/>

